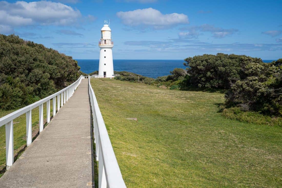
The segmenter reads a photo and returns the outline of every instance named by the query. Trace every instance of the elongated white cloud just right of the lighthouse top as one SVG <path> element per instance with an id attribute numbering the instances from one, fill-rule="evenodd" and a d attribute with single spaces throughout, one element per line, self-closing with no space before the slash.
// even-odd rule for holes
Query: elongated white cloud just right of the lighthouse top
<path id="1" fill-rule="evenodd" d="M 151 27 L 153 29 L 164 29 L 173 25 L 188 24 L 189 19 L 185 14 L 162 14 L 153 8 L 137 9 L 128 12 L 116 13 L 125 25 Z"/>

